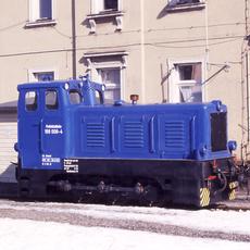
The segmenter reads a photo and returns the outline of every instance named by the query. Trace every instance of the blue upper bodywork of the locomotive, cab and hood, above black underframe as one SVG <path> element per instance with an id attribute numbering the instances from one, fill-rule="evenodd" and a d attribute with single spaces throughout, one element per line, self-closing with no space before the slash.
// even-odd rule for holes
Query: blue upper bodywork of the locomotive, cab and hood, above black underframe
<path id="1" fill-rule="evenodd" d="M 61 170 L 62 160 L 70 158 L 205 161 L 230 157 L 227 110 L 221 101 L 112 105 L 102 103 L 103 90 L 88 78 L 20 85 L 22 167 Z M 46 103 L 48 91 L 58 96 L 52 109 Z M 72 91 L 79 95 L 79 102 L 71 102 Z M 30 92 L 36 96 L 35 109 L 27 108 Z M 224 127 L 217 130 L 222 122 Z M 224 141 L 217 146 L 220 136 Z"/>

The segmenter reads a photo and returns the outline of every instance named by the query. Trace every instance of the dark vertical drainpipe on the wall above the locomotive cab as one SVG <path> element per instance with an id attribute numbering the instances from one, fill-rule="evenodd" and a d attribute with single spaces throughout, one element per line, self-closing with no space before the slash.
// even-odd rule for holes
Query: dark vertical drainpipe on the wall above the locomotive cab
<path id="1" fill-rule="evenodd" d="M 72 78 L 76 79 L 76 21 L 75 21 L 75 0 L 72 0 Z"/>

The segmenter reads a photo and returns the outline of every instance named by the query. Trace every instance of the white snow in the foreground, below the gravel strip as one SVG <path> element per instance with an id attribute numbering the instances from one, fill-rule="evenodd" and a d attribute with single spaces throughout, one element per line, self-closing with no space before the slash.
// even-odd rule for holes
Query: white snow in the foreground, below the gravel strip
<path id="1" fill-rule="evenodd" d="M 0 249 L 4 250 L 249 250 L 249 247 L 247 242 L 0 218 Z"/>

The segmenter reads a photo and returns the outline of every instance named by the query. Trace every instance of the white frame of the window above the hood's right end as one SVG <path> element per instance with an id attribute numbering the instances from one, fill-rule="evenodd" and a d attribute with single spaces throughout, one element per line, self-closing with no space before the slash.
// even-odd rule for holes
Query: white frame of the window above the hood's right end
<path id="1" fill-rule="evenodd" d="M 195 80 L 179 80 L 179 75 L 177 73 L 176 65 L 189 65 L 189 64 L 197 64 L 201 63 L 201 84 L 204 83 L 205 79 L 205 60 L 204 59 L 184 59 L 184 60 L 168 60 L 168 68 L 172 68 L 170 78 L 168 78 L 168 86 L 165 89 L 168 93 L 168 101 L 172 103 L 179 102 L 179 87 L 186 87 L 195 85 Z M 201 92 L 202 92 L 202 101 L 207 100 L 205 97 L 205 86 L 201 85 Z"/>

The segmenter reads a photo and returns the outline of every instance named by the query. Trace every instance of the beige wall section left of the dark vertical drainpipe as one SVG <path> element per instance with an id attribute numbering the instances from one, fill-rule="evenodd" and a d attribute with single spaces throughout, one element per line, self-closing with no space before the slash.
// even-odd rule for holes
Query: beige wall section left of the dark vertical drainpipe
<path id="1" fill-rule="evenodd" d="M 30 0 L 32 1 L 32 0 Z M 30 72 L 55 71 L 72 75 L 71 1 L 55 0 L 54 24 L 34 25 L 29 0 L 1 1 L 0 102 L 16 100 L 16 86 L 29 82 Z"/>

